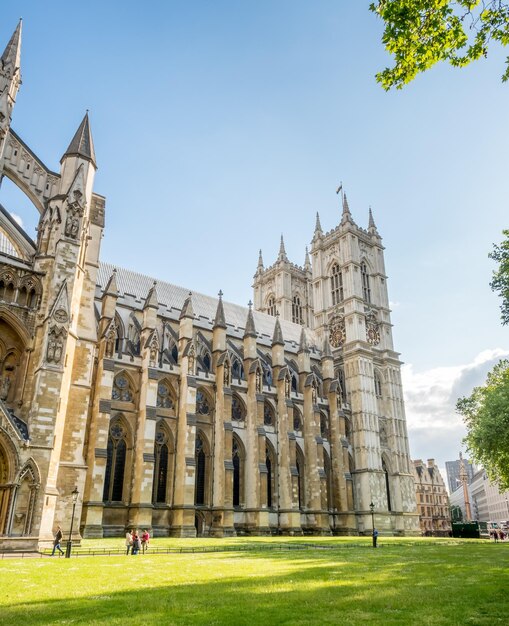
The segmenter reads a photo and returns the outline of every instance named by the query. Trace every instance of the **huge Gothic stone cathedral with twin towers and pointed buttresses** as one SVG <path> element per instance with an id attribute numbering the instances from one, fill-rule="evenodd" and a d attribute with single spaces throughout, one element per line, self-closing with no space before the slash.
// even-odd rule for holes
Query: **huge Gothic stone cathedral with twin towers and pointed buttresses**
<path id="1" fill-rule="evenodd" d="M 261 259 L 254 310 L 99 261 L 85 116 L 46 165 L 11 127 L 21 22 L 0 68 L 0 550 L 127 527 L 157 536 L 418 533 L 381 238 L 346 197 L 304 267 Z"/>

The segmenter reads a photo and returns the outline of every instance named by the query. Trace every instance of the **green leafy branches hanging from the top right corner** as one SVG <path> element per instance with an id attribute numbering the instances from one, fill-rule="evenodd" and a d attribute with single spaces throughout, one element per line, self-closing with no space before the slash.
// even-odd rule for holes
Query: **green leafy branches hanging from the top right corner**
<path id="1" fill-rule="evenodd" d="M 378 0 L 382 42 L 395 65 L 377 74 L 384 89 L 401 89 L 439 61 L 463 67 L 509 43 L 509 4 L 500 0 Z M 502 80 L 509 79 L 509 57 Z"/>

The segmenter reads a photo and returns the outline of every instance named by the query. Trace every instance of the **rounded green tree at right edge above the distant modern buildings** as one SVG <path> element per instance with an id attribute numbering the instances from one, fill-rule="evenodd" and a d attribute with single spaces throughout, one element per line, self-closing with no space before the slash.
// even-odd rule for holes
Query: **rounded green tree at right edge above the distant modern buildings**
<path id="1" fill-rule="evenodd" d="M 509 361 L 500 361 L 486 384 L 458 400 L 468 434 L 464 439 L 477 463 L 483 465 L 501 491 L 509 489 Z"/>

